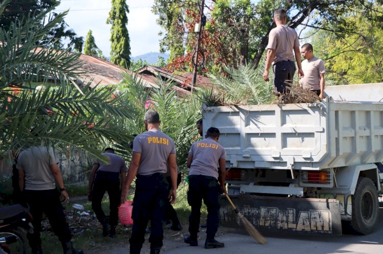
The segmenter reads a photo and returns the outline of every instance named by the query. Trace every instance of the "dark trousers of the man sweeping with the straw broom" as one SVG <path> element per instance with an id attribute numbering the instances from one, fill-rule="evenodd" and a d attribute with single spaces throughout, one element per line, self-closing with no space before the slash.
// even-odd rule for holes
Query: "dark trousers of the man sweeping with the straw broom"
<path id="1" fill-rule="evenodd" d="M 207 207 L 207 227 L 206 238 L 214 239 L 218 230 L 218 212 L 220 204 L 218 196 L 220 194 L 220 186 L 218 180 L 214 177 L 192 175 L 188 176 L 189 190 L 187 191 L 187 202 L 192 207 L 189 216 L 189 232 L 190 238 L 197 239 L 198 229 L 200 227 L 202 200 Z"/>

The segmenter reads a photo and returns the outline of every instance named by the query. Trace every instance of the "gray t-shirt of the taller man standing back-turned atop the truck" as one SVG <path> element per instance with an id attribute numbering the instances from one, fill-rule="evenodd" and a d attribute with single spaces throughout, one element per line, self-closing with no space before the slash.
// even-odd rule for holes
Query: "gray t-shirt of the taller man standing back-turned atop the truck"
<path id="1" fill-rule="evenodd" d="M 280 61 L 294 62 L 294 48 L 299 47 L 297 32 L 288 25 L 278 25 L 270 31 L 268 49 L 275 49 L 274 64 Z"/>

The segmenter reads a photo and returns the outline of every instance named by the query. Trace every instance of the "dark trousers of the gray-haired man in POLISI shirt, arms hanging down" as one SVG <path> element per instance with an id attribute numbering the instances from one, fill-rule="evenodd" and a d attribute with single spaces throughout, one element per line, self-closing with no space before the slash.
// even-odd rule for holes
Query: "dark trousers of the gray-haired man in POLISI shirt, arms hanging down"
<path id="1" fill-rule="evenodd" d="M 137 175 L 132 211 L 132 236 L 129 239 L 131 250 L 142 247 L 149 219 L 151 221 L 150 247 L 162 247 L 162 220 L 169 195 L 167 187 L 168 184 L 163 174 Z"/>

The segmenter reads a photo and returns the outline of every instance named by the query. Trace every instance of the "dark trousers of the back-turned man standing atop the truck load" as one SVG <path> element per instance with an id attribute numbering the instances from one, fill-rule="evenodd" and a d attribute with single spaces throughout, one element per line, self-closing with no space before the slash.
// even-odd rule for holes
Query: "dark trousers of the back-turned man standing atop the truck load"
<path id="1" fill-rule="evenodd" d="M 274 92 L 281 94 L 288 93 L 285 80 L 293 80 L 295 63 L 293 61 L 280 61 L 273 66 L 274 71 Z"/>

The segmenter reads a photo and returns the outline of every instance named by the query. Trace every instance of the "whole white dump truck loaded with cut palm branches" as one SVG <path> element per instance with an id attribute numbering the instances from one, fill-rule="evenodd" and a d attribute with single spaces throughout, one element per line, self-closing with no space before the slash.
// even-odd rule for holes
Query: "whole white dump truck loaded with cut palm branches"
<path id="1" fill-rule="evenodd" d="M 202 107 L 220 130 L 227 190 L 258 230 L 370 234 L 383 188 L 383 83 L 326 88 L 321 102 Z M 222 195 L 220 220 L 241 222 Z"/>

